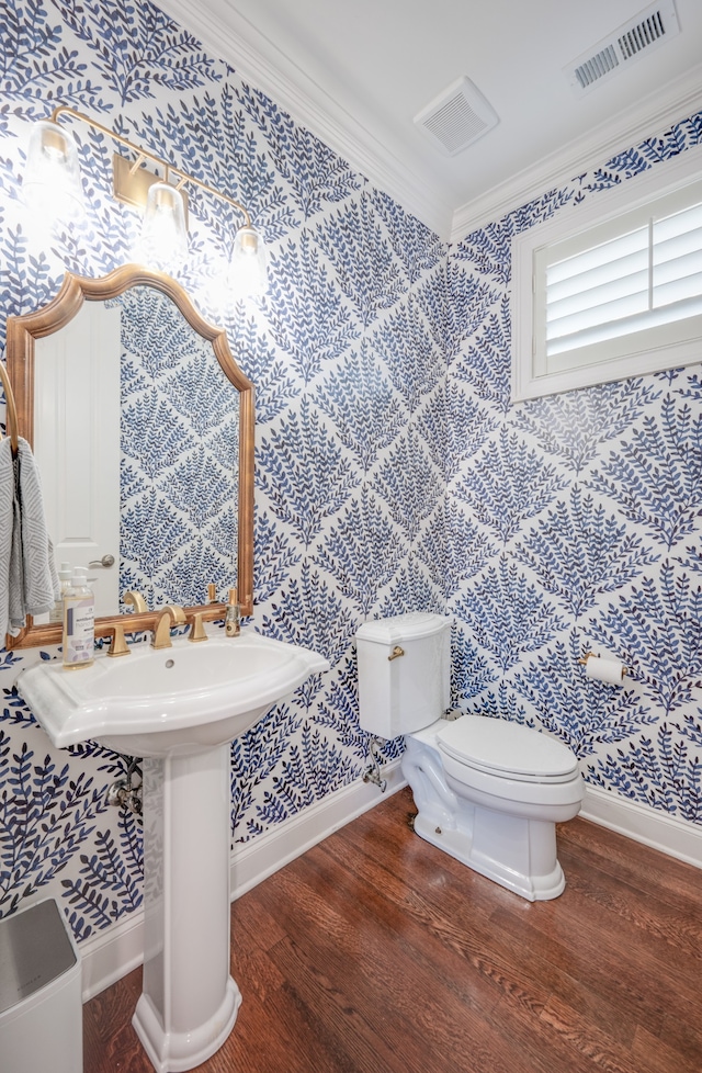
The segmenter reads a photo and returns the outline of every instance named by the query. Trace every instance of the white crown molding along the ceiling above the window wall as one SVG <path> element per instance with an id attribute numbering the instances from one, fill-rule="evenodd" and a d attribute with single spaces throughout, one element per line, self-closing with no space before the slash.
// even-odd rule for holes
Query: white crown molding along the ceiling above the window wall
<path id="1" fill-rule="evenodd" d="M 623 145 L 634 144 L 668 124 L 684 118 L 702 108 L 702 64 L 676 79 L 665 93 L 656 91 L 636 105 L 620 112 L 587 136 L 569 142 L 539 163 L 524 168 L 487 193 L 466 202 L 453 214 L 451 241 L 458 242 L 472 230 L 501 219 L 545 190 L 568 182 L 574 176 L 601 163 L 619 153 Z"/>

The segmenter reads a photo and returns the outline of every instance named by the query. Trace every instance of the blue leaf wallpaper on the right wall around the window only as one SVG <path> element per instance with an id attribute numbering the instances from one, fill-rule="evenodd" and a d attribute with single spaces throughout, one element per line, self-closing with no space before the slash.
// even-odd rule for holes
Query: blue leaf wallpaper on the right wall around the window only
<path id="1" fill-rule="evenodd" d="M 448 476 L 454 701 L 546 728 L 587 781 L 702 824 L 702 368 L 510 405 L 510 241 L 702 140 L 702 113 L 466 235 L 450 263 L 489 293 L 449 325 L 448 398 L 474 407 Z M 448 423 L 451 425 L 452 409 Z M 621 659 L 622 688 L 586 677 Z"/>

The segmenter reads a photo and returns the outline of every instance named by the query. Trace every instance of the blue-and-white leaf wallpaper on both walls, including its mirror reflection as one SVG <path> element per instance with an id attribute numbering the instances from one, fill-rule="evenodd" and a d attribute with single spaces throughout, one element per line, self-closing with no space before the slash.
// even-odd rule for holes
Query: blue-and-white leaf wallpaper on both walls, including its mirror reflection
<path id="1" fill-rule="evenodd" d="M 590 784 L 701 825 L 702 373 L 519 405 L 509 383 L 511 238 L 665 168 L 700 142 L 700 116 L 448 247 L 151 3 L 0 9 L 3 355 L 7 315 L 49 301 L 66 270 L 101 275 L 129 261 L 137 238 L 137 214 L 111 196 L 112 146 L 82 127 L 88 224 L 43 242 L 29 230 L 30 122 L 58 103 L 239 199 L 265 237 L 268 293 L 236 303 L 219 282 L 236 214 L 195 191 L 178 279 L 226 328 L 257 388 L 246 629 L 317 648 L 331 670 L 234 743 L 233 840 L 360 779 L 353 634 L 367 617 L 414 609 L 455 620 L 455 705 L 546 730 Z M 176 375 L 131 357 L 123 370 L 124 510 L 154 534 L 154 600 L 181 569 L 202 573 L 204 589 L 234 524 L 217 490 L 227 415 L 196 373 L 186 394 L 207 399 L 203 426 L 171 444 L 167 478 L 157 465 L 154 428 L 185 420 Z M 210 558 L 195 549 L 181 566 L 163 549 L 190 524 L 186 489 L 203 470 Z M 122 557 L 138 585 L 128 547 Z M 590 645 L 631 667 L 623 689 L 585 677 L 577 660 Z M 19 670 L 56 655 L 0 652 L 0 915 L 53 894 L 84 940 L 140 905 L 141 838 L 105 802 L 128 759 L 92 743 L 54 749 L 18 696 Z M 400 753 L 399 741 L 384 748 Z"/>

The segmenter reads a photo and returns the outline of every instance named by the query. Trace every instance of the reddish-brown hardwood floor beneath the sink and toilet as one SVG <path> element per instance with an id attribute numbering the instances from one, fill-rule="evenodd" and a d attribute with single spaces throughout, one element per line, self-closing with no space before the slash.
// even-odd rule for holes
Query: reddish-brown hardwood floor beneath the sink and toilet
<path id="1" fill-rule="evenodd" d="M 409 790 L 231 906 L 244 994 L 202 1073 L 700 1073 L 702 872 L 584 820 L 530 904 L 415 835 Z M 84 1073 L 149 1073 L 140 970 L 84 1007 Z"/>

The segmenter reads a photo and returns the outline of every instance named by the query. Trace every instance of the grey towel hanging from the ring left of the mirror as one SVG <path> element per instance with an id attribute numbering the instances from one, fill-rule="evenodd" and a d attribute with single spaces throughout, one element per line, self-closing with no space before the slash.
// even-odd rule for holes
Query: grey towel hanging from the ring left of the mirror
<path id="1" fill-rule="evenodd" d="M 9 439 L 0 440 L 0 637 L 14 636 L 27 614 L 50 611 L 60 589 L 46 531 L 38 468 L 26 440 L 16 459 Z"/>

